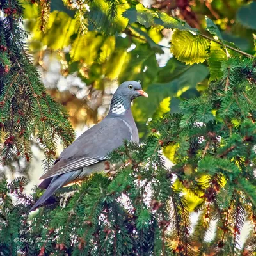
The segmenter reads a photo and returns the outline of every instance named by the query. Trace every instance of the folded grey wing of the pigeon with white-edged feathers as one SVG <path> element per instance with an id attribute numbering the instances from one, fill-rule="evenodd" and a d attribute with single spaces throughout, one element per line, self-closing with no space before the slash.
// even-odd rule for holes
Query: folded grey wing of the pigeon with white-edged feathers
<path id="1" fill-rule="evenodd" d="M 127 122 L 120 118 L 105 118 L 63 150 L 56 164 L 40 179 L 98 163 L 106 159 L 108 152 L 120 147 L 124 140 L 131 141 L 131 138 L 132 128 Z"/>

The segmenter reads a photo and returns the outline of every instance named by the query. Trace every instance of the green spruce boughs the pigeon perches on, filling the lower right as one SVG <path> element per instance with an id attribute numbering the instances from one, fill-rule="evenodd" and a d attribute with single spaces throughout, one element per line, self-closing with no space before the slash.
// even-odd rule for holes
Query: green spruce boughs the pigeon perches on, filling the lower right
<path id="1" fill-rule="evenodd" d="M 112 177 L 88 177 L 64 208 L 56 196 L 28 218 L 42 192 L 26 196 L 24 179 L 2 180 L 2 252 L 253 255 L 254 231 L 243 249 L 237 239 L 245 220 L 256 227 L 255 68 L 247 58 L 224 61 L 223 76 L 202 97 L 183 102 L 182 114 L 152 122 L 142 145 L 125 143 L 112 152 L 109 159 L 121 162 L 120 170 Z M 162 149 L 173 150 L 172 168 L 166 168 Z M 9 193 L 19 198 L 18 205 Z M 188 195 L 200 213 L 193 232 Z M 211 220 L 218 220 L 217 230 L 207 243 Z"/>

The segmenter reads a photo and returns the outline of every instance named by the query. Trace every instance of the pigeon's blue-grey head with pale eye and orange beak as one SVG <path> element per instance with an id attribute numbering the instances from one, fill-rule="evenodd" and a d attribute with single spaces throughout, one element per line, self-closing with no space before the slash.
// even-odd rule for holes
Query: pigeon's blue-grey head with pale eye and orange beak
<path id="1" fill-rule="evenodd" d="M 142 90 L 141 84 L 137 81 L 127 81 L 120 84 L 115 94 L 121 95 L 122 97 L 127 98 L 131 101 L 139 96 L 144 96 L 148 98 L 148 93 Z"/>

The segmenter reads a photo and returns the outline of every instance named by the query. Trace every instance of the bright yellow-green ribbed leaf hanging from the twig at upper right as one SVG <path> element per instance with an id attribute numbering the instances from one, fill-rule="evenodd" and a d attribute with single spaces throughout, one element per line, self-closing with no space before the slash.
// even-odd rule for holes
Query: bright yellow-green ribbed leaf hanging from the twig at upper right
<path id="1" fill-rule="evenodd" d="M 202 36 L 177 30 L 173 33 L 171 43 L 173 55 L 186 64 L 203 63 L 207 58 L 209 42 Z"/>

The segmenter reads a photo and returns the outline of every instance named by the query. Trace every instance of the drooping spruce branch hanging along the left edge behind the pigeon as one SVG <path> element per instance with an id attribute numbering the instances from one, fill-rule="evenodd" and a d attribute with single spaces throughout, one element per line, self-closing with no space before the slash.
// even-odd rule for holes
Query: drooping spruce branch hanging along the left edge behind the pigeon
<path id="1" fill-rule="evenodd" d="M 31 158 L 31 136 L 44 148 L 45 168 L 53 163 L 56 141 L 67 146 L 74 131 L 62 106 L 45 92 L 40 74 L 26 52 L 19 1 L 1 1 L 0 18 L 0 127 L 4 142 L 1 159 Z"/>

